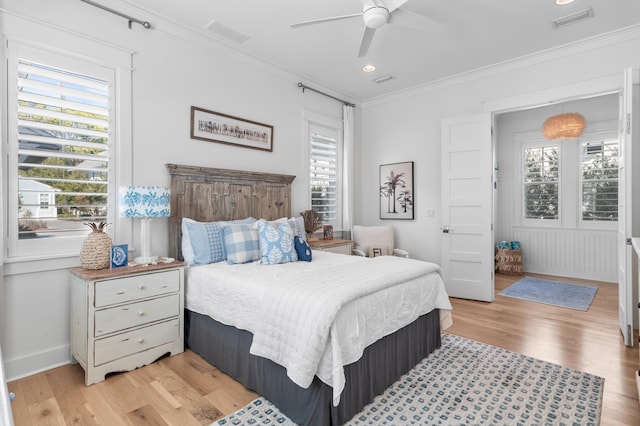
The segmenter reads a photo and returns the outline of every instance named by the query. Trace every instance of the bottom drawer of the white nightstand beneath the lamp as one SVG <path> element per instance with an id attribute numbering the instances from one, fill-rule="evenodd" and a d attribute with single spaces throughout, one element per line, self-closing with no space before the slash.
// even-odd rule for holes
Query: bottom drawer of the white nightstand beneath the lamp
<path id="1" fill-rule="evenodd" d="M 180 319 L 154 324 L 94 342 L 94 365 L 144 352 L 180 339 Z"/>

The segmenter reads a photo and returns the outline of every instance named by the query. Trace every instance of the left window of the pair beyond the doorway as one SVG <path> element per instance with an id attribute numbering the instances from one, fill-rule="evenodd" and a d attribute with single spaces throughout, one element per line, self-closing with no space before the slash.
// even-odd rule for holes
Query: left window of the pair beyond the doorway
<path id="1" fill-rule="evenodd" d="M 557 220 L 559 146 L 526 147 L 522 164 L 525 219 Z"/>

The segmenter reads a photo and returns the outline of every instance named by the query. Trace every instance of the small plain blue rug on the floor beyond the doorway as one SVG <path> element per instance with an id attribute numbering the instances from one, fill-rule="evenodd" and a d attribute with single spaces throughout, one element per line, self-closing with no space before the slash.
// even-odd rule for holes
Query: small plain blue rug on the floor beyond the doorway
<path id="1" fill-rule="evenodd" d="M 524 277 L 500 292 L 500 296 L 587 311 L 598 287 Z"/>

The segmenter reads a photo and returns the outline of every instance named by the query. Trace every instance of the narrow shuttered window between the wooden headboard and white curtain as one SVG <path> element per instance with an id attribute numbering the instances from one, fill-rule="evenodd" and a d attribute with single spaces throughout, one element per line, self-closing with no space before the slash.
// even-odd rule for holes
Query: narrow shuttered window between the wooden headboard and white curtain
<path id="1" fill-rule="evenodd" d="M 323 224 L 340 229 L 341 132 L 337 127 L 309 122 L 308 137 L 311 209 L 321 215 Z"/>

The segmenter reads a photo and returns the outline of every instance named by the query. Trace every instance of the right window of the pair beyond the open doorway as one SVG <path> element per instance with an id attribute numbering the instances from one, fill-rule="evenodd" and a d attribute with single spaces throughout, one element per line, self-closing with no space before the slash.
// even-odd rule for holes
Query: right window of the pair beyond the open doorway
<path id="1" fill-rule="evenodd" d="M 618 140 L 582 143 L 583 221 L 618 220 Z"/>

